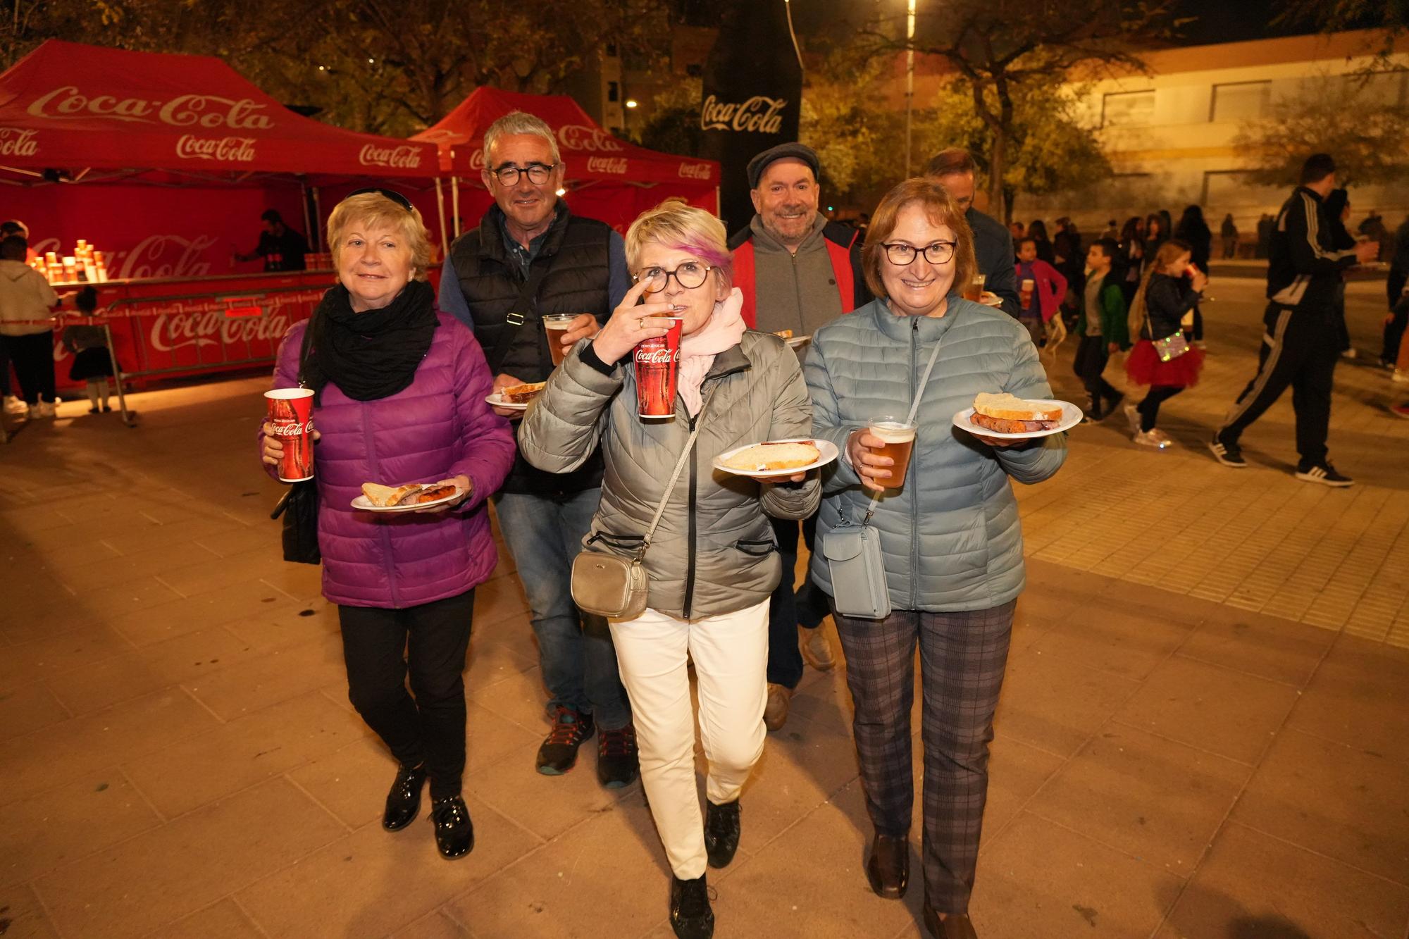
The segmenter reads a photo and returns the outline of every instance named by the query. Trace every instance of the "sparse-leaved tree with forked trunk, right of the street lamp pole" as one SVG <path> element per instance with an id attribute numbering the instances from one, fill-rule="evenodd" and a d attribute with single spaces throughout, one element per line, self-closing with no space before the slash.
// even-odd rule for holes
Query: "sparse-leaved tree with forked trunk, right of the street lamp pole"
<path id="1" fill-rule="evenodd" d="M 1140 69 L 1138 49 L 1179 24 L 1172 0 L 929 0 L 919 8 L 913 48 L 955 72 L 974 113 L 991 131 L 989 206 L 1005 214 L 1017 99 L 1024 87 L 1055 86 L 1078 68 Z M 867 31 L 874 52 L 912 48 L 896 17 Z"/>

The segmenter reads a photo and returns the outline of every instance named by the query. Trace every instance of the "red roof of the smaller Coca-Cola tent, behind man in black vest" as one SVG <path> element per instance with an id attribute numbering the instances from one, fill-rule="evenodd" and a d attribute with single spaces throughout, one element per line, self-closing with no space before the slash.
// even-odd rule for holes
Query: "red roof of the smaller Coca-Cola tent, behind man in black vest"
<path id="1" fill-rule="evenodd" d="M 411 140 L 437 144 L 444 169 L 479 179 L 485 166 L 485 131 L 509 111 L 527 111 L 552 128 L 571 180 L 719 185 L 717 162 L 658 154 L 617 140 L 566 94 L 520 94 L 479 87 L 444 120 Z"/>

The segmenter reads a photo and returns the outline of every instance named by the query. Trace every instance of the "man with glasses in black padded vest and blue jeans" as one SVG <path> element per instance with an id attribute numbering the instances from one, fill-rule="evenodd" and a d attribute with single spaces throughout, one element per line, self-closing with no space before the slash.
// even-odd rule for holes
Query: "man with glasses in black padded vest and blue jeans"
<path id="1" fill-rule="evenodd" d="M 541 120 L 513 111 L 490 124 L 480 176 L 495 206 L 451 245 L 440 307 L 475 330 L 497 392 L 541 382 L 552 371 L 542 316 L 579 314 L 565 344 L 595 336 L 630 289 L 630 276 L 621 235 L 573 216 L 558 197 L 564 164 Z M 538 747 L 538 771 L 566 773 L 578 746 L 597 732 L 597 780 L 617 788 L 638 771 L 630 704 L 606 620 L 579 613 L 569 588 L 572 558 L 600 493 L 600 453 L 565 474 L 535 470 L 520 455 L 492 501 L 528 596 L 550 695 L 552 730 Z"/>

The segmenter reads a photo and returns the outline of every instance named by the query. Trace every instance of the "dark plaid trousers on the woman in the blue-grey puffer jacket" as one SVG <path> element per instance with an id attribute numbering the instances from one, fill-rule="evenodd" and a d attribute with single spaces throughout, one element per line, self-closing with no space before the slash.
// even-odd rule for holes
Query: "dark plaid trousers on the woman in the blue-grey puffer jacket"
<path id="1" fill-rule="evenodd" d="M 910 706 L 920 646 L 924 742 L 924 892 L 938 912 L 967 912 L 988 801 L 988 744 L 1003 687 L 1012 601 L 992 609 L 886 619 L 834 616 L 855 704 L 867 811 L 881 835 L 905 837 L 914 806 Z"/>

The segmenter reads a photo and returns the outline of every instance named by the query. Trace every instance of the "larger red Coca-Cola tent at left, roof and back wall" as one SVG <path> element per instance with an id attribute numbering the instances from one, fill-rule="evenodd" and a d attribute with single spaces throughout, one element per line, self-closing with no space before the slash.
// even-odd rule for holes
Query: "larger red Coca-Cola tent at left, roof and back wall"
<path id="1" fill-rule="evenodd" d="M 87 238 L 114 279 L 258 271 L 232 255 L 261 213 L 316 247 L 334 193 L 368 185 L 404 192 L 435 234 L 438 175 L 434 145 L 303 117 L 214 58 L 51 39 L 0 75 L 0 217 L 38 251 Z"/>

